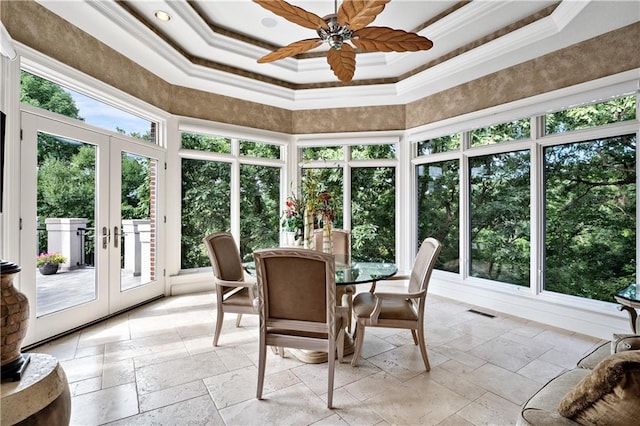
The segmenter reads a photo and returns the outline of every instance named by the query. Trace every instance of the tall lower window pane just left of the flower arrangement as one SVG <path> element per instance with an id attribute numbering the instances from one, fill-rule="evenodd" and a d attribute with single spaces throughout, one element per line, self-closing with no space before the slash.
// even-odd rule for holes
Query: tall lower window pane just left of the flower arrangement
<path id="1" fill-rule="evenodd" d="M 278 247 L 280 168 L 240 165 L 240 255 L 253 261 L 253 251 Z"/>

